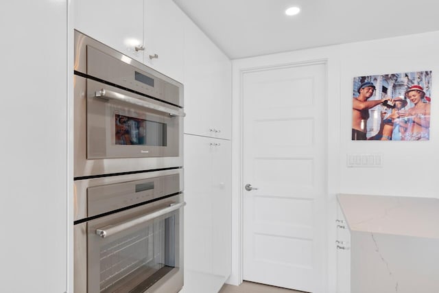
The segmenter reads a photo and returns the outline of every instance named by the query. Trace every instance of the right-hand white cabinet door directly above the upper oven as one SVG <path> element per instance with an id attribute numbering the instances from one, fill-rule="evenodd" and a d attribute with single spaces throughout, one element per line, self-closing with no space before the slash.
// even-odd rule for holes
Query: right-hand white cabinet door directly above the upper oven
<path id="1" fill-rule="evenodd" d="M 145 56 L 149 67 L 183 81 L 183 20 L 171 0 L 145 0 Z"/>

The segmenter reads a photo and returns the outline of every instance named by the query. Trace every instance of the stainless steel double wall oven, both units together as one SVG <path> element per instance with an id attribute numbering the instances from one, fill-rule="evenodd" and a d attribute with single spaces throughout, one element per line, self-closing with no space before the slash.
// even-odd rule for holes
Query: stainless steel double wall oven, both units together
<path id="1" fill-rule="evenodd" d="M 182 84 L 75 31 L 74 292 L 183 285 Z"/>

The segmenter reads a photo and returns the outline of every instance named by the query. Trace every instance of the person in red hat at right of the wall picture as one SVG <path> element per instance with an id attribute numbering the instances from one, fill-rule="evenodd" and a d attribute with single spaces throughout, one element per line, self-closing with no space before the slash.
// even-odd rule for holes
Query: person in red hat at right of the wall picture
<path id="1" fill-rule="evenodd" d="M 414 104 L 407 112 L 407 130 L 402 140 L 428 141 L 430 137 L 430 103 L 425 100 L 422 86 L 410 86 L 405 91 L 405 97 Z M 425 102 L 424 102 L 425 101 Z"/>

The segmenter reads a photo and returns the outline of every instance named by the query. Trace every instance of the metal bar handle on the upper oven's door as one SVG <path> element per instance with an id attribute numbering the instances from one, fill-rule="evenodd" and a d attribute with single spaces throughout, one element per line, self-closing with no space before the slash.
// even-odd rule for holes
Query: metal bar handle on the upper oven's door
<path id="1" fill-rule="evenodd" d="M 123 95 L 121 93 L 117 93 L 115 91 L 109 91 L 107 89 L 100 89 L 99 91 L 95 91 L 95 96 L 101 99 L 116 99 L 120 102 L 125 102 L 128 104 L 134 104 L 137 106 L 141 106 L 143 108 L 148 108 L 152 110 L 157 110 L 158 112 L 165 113 L 171 117 L 185 117 L 186 113 L 183 110 L 174 110 L 171 108 L 167 108 L 165 106 L 159 106 L 151 102 L 144 101 L 142 99 L 138 99 L 137 97 L 130 97 L 129 95 Z"/>

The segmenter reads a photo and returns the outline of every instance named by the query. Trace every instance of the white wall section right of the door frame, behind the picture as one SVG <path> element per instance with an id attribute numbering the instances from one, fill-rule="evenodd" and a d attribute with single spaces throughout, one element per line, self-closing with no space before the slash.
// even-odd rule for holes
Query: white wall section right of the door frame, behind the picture
<path id="1" fill-rule="evenodd" d="M 340 192 L 439 197 L 439 32 L 340 46 Z M 429 141 L 350 141 L 352 78 L 431 70 Z M 382 168 L 347 168 L 346 154 L 382 153 Z"/>

